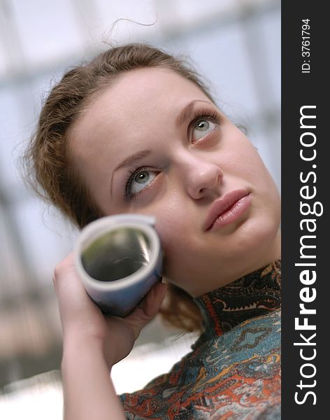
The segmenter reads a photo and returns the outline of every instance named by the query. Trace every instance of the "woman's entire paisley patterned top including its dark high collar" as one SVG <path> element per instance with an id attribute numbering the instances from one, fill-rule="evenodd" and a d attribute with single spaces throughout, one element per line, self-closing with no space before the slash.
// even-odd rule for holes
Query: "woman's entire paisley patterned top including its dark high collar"
<path id="1" fill-rule="evenodd" d="M 280 269 L 197 297 L 204 332 L 170 372 L 120 395 L 127 419 L 280 419 Z"/>

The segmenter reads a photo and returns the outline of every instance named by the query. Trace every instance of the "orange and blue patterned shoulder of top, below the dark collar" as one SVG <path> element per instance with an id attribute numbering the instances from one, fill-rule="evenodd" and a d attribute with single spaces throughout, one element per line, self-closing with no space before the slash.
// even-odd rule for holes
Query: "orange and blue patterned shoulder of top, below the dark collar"
<path id="1" fill-rule="evenodd" d="M 206 412 L 225 416 L 231 409 L 242 415 L 237 418 L 267 413 L 269 419 L 277 419 L 280 311 L 244 321 L 220 337 L 201 335 L 170 372 L 120 399 L 128 418 L 136 420 L 184 413 L 199 418 Z"/>

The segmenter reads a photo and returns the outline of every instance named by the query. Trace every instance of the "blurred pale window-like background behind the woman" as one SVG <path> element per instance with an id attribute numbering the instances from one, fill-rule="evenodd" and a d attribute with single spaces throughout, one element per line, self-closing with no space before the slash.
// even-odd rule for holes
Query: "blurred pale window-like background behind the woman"
<path id="1" fill-rule="evenodd" d="M 110 41 L 189 56 L 280 188 L 280 0 L 0 0 L 1 419 L 62 419 L 52 271 L 78 232 L 31 195 L 18 162 L 50 87 Z M 117 392 L 166 372 L 194 339 L 156 318 L 114 367 Z"/>

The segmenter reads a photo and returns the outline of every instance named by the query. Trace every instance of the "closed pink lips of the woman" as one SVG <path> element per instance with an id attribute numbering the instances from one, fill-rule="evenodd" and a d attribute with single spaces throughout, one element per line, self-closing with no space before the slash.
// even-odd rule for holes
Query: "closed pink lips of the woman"
<path id="1" fill-rule="evenodd" d="M 204 223 L 204 230 L 220 228 L 236 221 L 250 206 L 251 197 L 247 190 L 234 190 L 213 203 Z"/>

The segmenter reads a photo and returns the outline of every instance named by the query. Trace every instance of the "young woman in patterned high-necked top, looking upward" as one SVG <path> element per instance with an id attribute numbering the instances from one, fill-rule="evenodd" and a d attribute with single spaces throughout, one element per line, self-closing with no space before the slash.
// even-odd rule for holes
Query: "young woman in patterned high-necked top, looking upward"
<path id="1" fill-rule="evenodd" d="M 278 190 L 199 76 L 148 45 L 110 49 L 52 89 L 26 158 L 80 228 L 110 214 L 156 216 L 169 296 L 160 310 L 202 331 L 171 372 L 118 398 L 111 367 L 166 284 L 126 318 L 105 317 L 69 255 L 54 274 L 65 419 L 279 419 Z"/>

